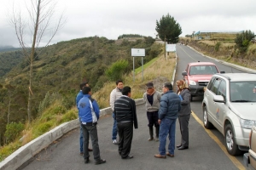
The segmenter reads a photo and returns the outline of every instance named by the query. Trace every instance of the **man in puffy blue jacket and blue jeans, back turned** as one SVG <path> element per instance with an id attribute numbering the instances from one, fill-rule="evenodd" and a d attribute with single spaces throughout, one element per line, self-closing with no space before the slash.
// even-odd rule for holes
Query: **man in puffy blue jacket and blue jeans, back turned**
<path id="1" fill-rule="evenodd" d="M 174 157 L 175 150 L 175 128 L 177 113 L 181 110 L 181 101 L 177 94 L 172 91 L 172 84 L 166 82 L 163 86 L 163 95 L 160 99 L 159 110 L 159 154 L 154 155 L 156 158 Z M 168 144 L 168 152 L 166 153 L 166 138 L 169 135 L 170 143 Z"/>

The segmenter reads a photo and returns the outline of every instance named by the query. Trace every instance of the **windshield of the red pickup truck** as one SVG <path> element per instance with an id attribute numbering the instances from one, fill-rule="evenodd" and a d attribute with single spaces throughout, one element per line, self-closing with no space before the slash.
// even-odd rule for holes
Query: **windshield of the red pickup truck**
<path id="1" fill-rule="evenodd" d="M 213 75 L 218 73 L 215 65 L 197 65 L 191 66 L 189 75 Z"/>

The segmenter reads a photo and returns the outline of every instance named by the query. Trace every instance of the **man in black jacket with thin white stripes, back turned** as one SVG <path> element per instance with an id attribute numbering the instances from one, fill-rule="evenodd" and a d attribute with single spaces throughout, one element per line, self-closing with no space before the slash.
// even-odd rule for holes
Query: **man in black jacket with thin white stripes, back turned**
<path id="1" fill-rule="evenodd" d="M 122 96 L 114 102 L 114 118 L 117 122 L 119 133 L 119 155 L 122 159 L 131 159 L 131 141 L 133 125 L 137 128 L 137 113 L 135 101 L 131 99 L 131 88 L 126 86 Z"/>

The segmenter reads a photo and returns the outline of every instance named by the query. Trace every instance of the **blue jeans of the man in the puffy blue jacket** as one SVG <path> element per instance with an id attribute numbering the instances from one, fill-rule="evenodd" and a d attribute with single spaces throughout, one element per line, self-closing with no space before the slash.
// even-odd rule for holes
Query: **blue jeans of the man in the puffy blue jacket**
<path id="1" fill-rule="evenodd" d="M 160 122 L 160 132 L 159 132 L 159 152 L 161 156 L 166 156 L 166 138 L 169 134 L 169 144 L 168 151 L 170 154 L 174 155 L 175 149 L 175 128 L 176 128 L 176 119 L 164 118 Z"/>

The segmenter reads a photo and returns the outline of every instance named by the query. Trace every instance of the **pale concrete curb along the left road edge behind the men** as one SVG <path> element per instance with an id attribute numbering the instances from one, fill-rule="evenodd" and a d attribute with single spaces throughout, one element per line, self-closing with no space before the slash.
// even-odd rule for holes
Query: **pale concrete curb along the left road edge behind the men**
<path id="1" fill-rule="evenodd" d="M 143 105 L 143 99 L 135 99 L 136 105 Z M 111 107 L 104 108 L 100 112 L 100 117 L 112 114 Z M 23 163 L 29 161 L 33 156 L 38 154 L 41 150 L 54 142 L 56 139 L 61 138 L 65 133 L 79 127 L 79 119 L 64 122 L 58 127 L 51 129 L 49 132 L 44 133 L 37 139 L 21 146 L 18 150 L 0 162 L 0 170 L 14 170 L 19 168 Z"/>

